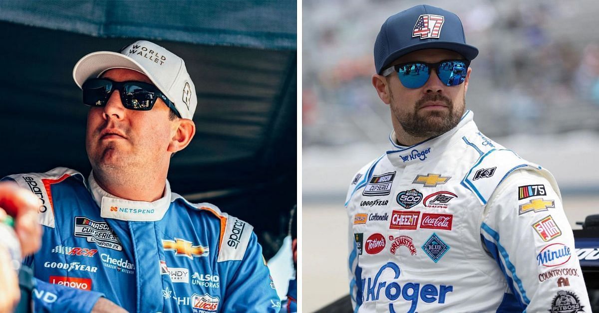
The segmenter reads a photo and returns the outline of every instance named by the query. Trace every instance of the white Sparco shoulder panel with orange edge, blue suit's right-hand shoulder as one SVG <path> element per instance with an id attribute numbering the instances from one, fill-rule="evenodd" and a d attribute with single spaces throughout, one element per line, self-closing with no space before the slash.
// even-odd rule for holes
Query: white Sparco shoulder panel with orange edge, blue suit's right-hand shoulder
<path id="1" fill-rule="evenodd" d="M 220 211 L 219 207 L 208 202 L 192 203 L 173 193 L 173 201 L 180 199 L 189 214 L 199 214 L 219 223 L 219 257 L 217 262 L 243 260 L 248 247 L 253 247 L 253 226 L 240 218 Z"/>

